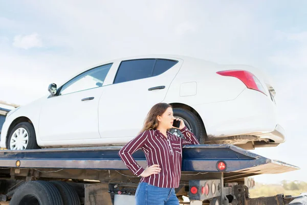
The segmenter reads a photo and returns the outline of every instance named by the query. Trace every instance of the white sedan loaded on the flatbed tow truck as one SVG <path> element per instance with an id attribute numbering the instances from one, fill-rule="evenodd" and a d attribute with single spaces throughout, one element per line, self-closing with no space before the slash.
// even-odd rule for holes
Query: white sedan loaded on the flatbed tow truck
<path id="1" fill-rule="evenodd" d="M 254 149 L 284 142 L 275 91 L 251 66 L 174 55 L 121 58 L 48 90 L 7 114 L 2 148 L 123 145 L 160 102 L 171 104 L 202 144 Z"/>

